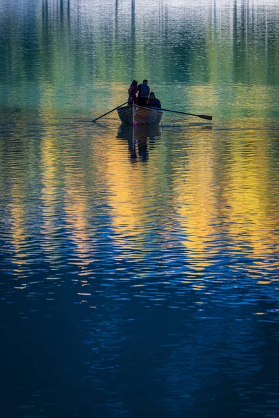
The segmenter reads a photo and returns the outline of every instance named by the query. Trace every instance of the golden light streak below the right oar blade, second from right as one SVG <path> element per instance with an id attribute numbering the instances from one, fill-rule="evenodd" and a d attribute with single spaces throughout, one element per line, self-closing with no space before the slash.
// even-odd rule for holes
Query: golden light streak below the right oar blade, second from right
<path id="1" fill-rule="evenodd" d="M 209 135 L 209 137 L 207 136 Z M 213 144 L 209 134 L 195 134 L 188 150 L 184 175 L 176 176 L 174 189 L 176 210 L 187 240 L 183 242 L 196 272 L 211 264 L 209 237 L 215 232 L 216 196 L 213 193 Z"/>

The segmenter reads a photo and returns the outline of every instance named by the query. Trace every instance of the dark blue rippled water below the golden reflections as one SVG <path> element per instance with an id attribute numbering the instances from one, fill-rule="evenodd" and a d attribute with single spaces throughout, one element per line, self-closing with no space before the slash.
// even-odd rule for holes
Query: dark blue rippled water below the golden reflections
<path id="1" fill-rule="evenodd" d="M 107 244 L 92 277 L 70 249 L 56 271 L 40 256 L 31 279 L 6 270 L 2 416 L 277 417 L 276 285 L 236 279 L 226 254 L 183 283 L 177 251 L 133 263 Z"/>

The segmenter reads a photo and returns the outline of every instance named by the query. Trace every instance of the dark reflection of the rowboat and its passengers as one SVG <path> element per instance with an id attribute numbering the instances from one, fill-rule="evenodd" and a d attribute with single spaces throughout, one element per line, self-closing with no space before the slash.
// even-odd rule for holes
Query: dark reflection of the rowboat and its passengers
<path id="1" fill-rule="evenodd" d="M 125 125 L 121 123 L 117 133 L 117 138 L 128 140 L 128 149 L 130 151 L 130 160 L 149 160 L 149 151 L 153 148 L 156 137 L 162 135 L 161 125 Z"/>

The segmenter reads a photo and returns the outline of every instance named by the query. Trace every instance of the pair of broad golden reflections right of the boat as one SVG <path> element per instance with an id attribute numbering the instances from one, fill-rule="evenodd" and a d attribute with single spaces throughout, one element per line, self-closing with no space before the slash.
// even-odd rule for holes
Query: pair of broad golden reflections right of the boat
<path id="1" fill-rule="evenodd" d="M 221 158 L 213 132 L 193 137 L 186 171 L 175 178 L 174 196 L 195 270 L 212 263 L 214 240 L 220 233 L 229 238 L 231 251 L 248 252 L 253 258 L 268 256 L 265 268 L 274 267 L 278 193 L 271 194 L 267 144 L 264 130 L 232 131 Z M 278 178 L 273 180 L 278 184 Z"/>

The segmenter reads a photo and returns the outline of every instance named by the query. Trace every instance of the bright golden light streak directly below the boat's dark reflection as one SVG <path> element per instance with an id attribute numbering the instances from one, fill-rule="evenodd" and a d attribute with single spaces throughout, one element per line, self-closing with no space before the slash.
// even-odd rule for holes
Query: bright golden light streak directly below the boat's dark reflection
<path id="1" fill-rule="evenodd" d="M 107 199 L 111 206 L 114 242 L 129 251 L 127 238 L 130 237 L 137 249 L 144 250 L 145 235 L 153 222 L 149 212 L 156 199 L 157 179 L 161 178 L 160 162 L 153 162 L 152 172 L 140 162 L 131 163 L 128 160 L 128 140 L 114 140 L 111 147 L 107 146 L 105 158 L 104 175 L 109 191 Z M 127 251 L 123 251 L 123 257 Z M 129 257 L 135 258 L 136 255 L 130 251 Z"/>

